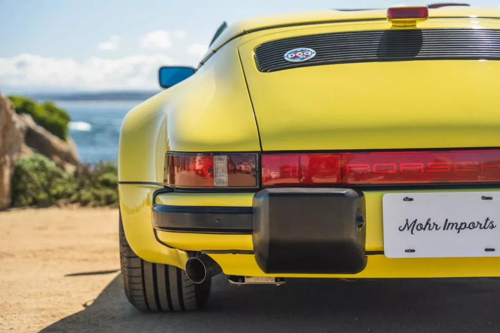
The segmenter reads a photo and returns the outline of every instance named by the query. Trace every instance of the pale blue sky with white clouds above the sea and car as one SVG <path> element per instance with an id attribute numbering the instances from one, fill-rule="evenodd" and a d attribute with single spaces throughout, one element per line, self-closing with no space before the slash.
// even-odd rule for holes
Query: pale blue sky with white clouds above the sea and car
<path id="1" fill-rule="evenodd" d="M 438 1 L 0 0 L 0 89 L 154 89 L 160 65 L 195 65 L 224 20 L 428 2 Z"/>

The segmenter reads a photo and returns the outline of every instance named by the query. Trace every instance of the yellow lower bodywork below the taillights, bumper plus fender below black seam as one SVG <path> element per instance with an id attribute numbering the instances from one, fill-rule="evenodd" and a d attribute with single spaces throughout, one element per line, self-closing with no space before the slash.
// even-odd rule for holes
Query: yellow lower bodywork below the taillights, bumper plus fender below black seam
<path id="1" fill-rule="evenodd" d="M 156 186 L 118 185 L 120 211 L 127 241 L 142 259 L 153 263 L 185 266 L 187 251 L 207 251 L 224 274 L 293 278 L 445 278 L 500 277 L 500 257 L 390 259 L 383 255 L 382 196 L 387 191 L 364 191 L 366 209 L 366 267 L 357 274 L 269 273 L 255 261 L 251 234 L 208 234 L 155 230 L 153 202 L 164 206 L 252 207 L 254 193 L 158 193 Z M 500 189 L 489 189 L 500 191 Z M 453 190 L 422 190 L 413 192 Z M 464 191 L 464 189 L 456 190 Z M 484 191 L 470 189 L 467 191 Z M 391 191 L 395 193 L 397 191 Z M 407 192 L 407 191 L 399 191 Z M 155 231 L 155 232 L 153 232 Z M 165 246 L 167 244 L 168 246 Z M 180 249 L 180 250 L 178 250 Z"/>

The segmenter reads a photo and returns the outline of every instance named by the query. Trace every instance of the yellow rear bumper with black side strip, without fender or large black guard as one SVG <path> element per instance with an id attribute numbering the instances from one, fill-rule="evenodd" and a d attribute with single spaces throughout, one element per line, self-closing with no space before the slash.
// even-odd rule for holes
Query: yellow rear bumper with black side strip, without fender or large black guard
<path id="1" fill-rule="evenodd" d="M 443 190 L 435 191 L 442 192 Z M 483 190 L 471 189 L 468 191 Z M 498 189 L 495 191 L 498 191 Z M 425 190 L 423 192 L 430 191 Z M 364 227 L 363 258 L 366 259 L 366 266 L 362 267 L 359 272 L 356 272 L 356 270 L 338 273 L 334 271 L 301 271 L 300 269 L 294 269 L 293 271 L 268 270 L 265 264 L 262 265 L 258 262 L 258 253 L 256 253 L 258 249 L 255 247 L 255 239 L 252 235 L 255 232 L 253 225 L 255 207 L 252 207 L 255 204 L 256 195 L 254 193 L 193 194 L 172 192 L 159 194 L 153 201 L 151 223 L 154 226 L 156 240 L 163 246 L 166 245 L 182 251 L 207 253 L 217 261 L 223 272 L 229 275 L 309 278 L 500 276 L 500 257 L 386 258 L 383 255 L 382 236 L 382 196 L 385 193 L 386 191 L 364 192 L 366 225 Z M 193 212 L 190 207 L 196 207 L 196 212 Z M 217 218 L 219 222 L 211 221 Z M 252 220 L 251 230 L 248 229 L 250 218 Z M 202 221 L 205 221 L 206 224 Z M 217 225 L 217 223 L 220 224 Z M 297 253 L 300 256 L 299 252 L 304 251 L 304 247 L 298 243 L 294 243 L 294 247 L 296 251 L 290 258 L 298 258 L 295 261 L 300 262 Z M 168 264 L 162 260 L 160 262 Z M 182 267 L 182 265 L 179 267 Z"/>

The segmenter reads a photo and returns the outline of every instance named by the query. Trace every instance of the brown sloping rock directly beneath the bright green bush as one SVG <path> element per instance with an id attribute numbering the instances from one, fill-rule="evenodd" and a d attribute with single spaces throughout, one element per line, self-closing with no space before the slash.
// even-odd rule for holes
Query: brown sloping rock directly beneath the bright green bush
<path id="1" fill-rule="evenodd" d="M 19 114 L 19 120 L 25 127 L 24 141 L 34 152 L 48 157 L 62 169 L 73 172 L 78 165 L 78 152 L 73 140 L 66 141 L 51 134 L 35 124 L 28 114 Z"/>

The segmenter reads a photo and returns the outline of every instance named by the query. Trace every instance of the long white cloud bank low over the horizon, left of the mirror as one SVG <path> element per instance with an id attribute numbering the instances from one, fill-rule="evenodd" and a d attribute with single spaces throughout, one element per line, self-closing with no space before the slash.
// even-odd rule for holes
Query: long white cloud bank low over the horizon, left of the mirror
<path id="1" fill-rule="evenodd" d="M 0 87 L 155 89 L 158 68 L 169 64 L 175 61 L 163 54 L 75 61 L 23 53 L 0 58 Z"/>

